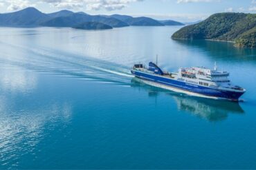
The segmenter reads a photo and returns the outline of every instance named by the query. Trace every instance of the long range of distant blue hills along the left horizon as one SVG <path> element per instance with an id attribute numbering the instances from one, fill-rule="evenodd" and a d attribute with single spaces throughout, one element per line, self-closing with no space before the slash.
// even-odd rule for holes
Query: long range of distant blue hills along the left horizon
<path id="1" fill-rule="evenodd" d="M 89 24 L 89 25 L 86 25 Z M 127 15 L 90 15 L 84 12 L 61 10 L 51 14 L 40 12 L 36 8 L 26 8 L 17 12 L 0 14 L 0 26 L 48 26 L 102 30 L 127 26 L 165 26 L 184 25 L 166 20 L 158 21 L 149 17 L 131 17 Z"/>

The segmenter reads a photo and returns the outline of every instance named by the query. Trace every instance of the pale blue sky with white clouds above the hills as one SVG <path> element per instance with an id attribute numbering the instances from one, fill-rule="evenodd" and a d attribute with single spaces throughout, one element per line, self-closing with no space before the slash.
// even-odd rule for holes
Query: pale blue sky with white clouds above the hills
<path id="1" fill-rule="evenodd" d="M 217 12 L 256 13 L 256 0 L 0 0 L 0 13 L 30 6 L 45 13 L 72 10 L 182 22 L 201 21 Z"/>

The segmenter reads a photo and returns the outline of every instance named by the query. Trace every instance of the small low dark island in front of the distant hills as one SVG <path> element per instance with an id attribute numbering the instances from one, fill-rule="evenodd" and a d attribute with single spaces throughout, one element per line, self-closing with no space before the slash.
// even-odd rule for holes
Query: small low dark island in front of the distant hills
<path id="1" fill-rule="evenodd" d="M 74 26 L 75 29 L 82 29 L 82 30 L 109 30 L 113 29 L 110 25 L 104 23 L 97 23 L 97 22 L 85 22 L 79 25 Z"/>

